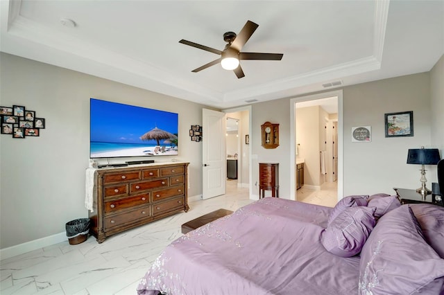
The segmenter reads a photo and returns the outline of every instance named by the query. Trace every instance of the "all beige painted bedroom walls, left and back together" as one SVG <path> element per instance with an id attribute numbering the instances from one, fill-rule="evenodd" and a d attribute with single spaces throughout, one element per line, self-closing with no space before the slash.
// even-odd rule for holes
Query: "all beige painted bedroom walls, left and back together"
<path id="1" fill-rule="evenodd" d="M 89 98 L 179 113 L 179 160 L 189 161 L 189 195 L 201 194 L 202 145 L 189 141 L 190 125 L 202 121 L 203 105 L 164 96 L 76 71 L 0 53 L 0 105 L 24 105 L 46 118 L 40 137 L 0 135 L 0 248 L 65 231 L 69 220 L 87 216 L 83 207 L 89 155 Z M 343 87 L 344 195 L 393 193 L 416 188 L 418 167 L 406 164 L 411 147 L 444 147 L 443 58 L 430 73 Z M 291 199 L 290 98 L 251 106 L 252 195 L 258 195 L 258 163 L 280 163 L 280 196 Z M 385 138 L 384 114 L 413 111 L 413 137 Z M 261 146 L 261 128 L 280 123 L 280 146 Z M 371 143 L 352 143 L 352 126 L 372 126 Z M 244 130 L 244 132 L 246 132 Z M 242 134 L 244 138 L 245 134 Z M 243 141 L 244 142 L 244 141 Z M 169 161 L 169 158 L 164 158 Z M 436 181 L 436 169 L 427 171 Z"/>

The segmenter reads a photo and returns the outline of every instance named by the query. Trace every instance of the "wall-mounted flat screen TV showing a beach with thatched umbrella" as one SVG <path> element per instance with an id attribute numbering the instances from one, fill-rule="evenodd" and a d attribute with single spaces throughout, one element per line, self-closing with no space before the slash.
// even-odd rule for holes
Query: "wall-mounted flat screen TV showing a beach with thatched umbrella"
<path id="1" fill-rule="evenodd" d="M 91 98 L 89 157 L 178 154 L 178 114 Z"/>

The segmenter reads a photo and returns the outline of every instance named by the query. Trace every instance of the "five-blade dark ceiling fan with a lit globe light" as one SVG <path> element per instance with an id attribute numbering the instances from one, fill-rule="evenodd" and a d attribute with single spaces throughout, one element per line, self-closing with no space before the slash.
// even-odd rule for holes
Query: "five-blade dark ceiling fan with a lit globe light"
<path id="1" fill-rule="evenodd" d="M 192 72 L 197 73 L 198 71 L 202 71 L 203 69 L 207 69 L 210 66 L 214 66 L 214 64 L 221 63 L 221 66 L 225 70 L 233 70 L 237 75 L 237 78 L 245 77 L 244 71 L 242 71 L 241 65 L 239 64 L 239 60 L 281 60 L 283 54 L 282 53 L 254 53 L 254 52 L 241 52 L 242 47 L 246 44 L 248 39 L 250 39 L 251 35 L 255 33 L 259 25 L 253 23 L 253 21 L 247 21 L 244 28 L 241 29 L 239 34 L 236 35 L 234 32 L 227 32 L 223 34 L 223 40 L 228 44 L 225 45 L 223 51 L 200 45 L 191 41 L 187 41 L 182 39 L 179 43 L 193 46 L 205 51 L 210 51 L 211 53 L 216 53 L 221 55 L 217 60 L 213 60 L 203 66 L 194 69 Z"/>

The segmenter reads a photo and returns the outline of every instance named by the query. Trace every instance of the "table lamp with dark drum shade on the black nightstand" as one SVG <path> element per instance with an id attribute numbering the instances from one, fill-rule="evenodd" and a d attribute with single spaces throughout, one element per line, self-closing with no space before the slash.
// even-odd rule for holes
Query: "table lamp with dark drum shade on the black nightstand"
<path id="1" fill-rule="evenodd" d="M 425 165 L 436 165 L 440 160 L 439 150 L 437 148 L 424 148 L 420 149 L 409 149 L 409 153 L 407 154 L 407 164 L 420 164 L 421 168 L 421 187 L 416 190 L 417 193 L 422 195 L 422 199 L 425 199 L 425 196 L 432 193 L 432 190 L 426 188 L 425 183 L 427 179 L 425 178 Z"/>

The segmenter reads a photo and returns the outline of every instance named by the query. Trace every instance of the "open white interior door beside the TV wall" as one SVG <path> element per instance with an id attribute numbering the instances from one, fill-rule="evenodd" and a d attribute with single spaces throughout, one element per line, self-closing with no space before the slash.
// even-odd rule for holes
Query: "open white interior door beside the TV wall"
<path id="1" fill-rule="evenodd" d="M 225 113 L 202 109 L 202 198 L 225 194 Z"/>

